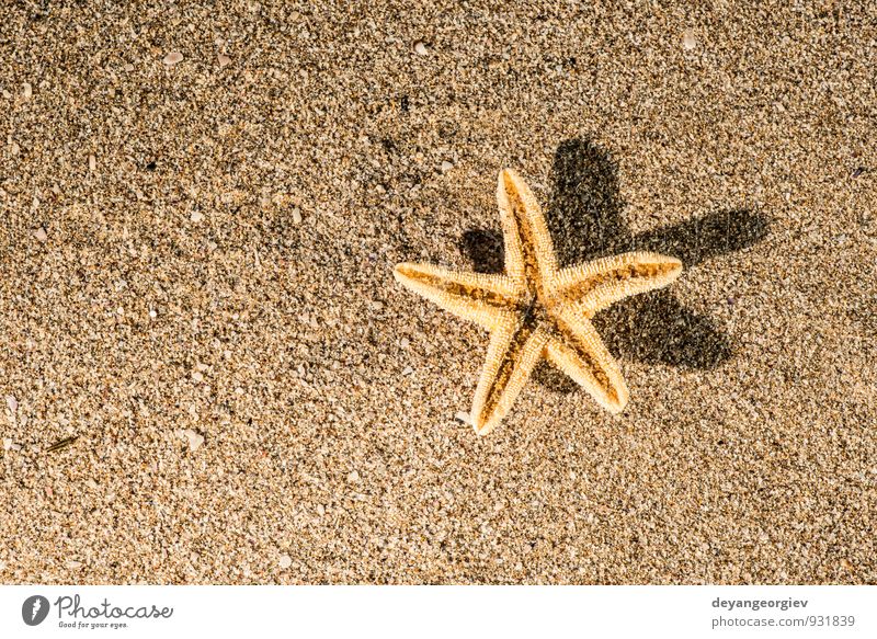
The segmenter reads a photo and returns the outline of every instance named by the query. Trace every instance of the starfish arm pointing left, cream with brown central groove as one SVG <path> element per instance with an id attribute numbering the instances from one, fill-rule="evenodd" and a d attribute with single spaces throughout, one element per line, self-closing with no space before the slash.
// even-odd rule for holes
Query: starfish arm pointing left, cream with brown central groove
<path id="1" fill-rule="evenodd" d="M 517 298 L 514 281 L 505 275 L 462 273 L 432 264 L 397 264 L 396 281 L 465 320 L 491 330 Z"/>

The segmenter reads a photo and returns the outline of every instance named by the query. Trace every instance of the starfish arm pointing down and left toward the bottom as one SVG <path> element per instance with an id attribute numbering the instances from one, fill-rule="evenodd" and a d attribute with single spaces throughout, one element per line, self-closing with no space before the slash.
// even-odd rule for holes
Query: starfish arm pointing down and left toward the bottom
<path id="1" fill-rule="evenodd" d="M 542 358 L 547 341 L 544 329 L 522 326 L 514 317 L 493 331 L 472 400 L 476 433 L 487 435 L 505 417 Z"/>

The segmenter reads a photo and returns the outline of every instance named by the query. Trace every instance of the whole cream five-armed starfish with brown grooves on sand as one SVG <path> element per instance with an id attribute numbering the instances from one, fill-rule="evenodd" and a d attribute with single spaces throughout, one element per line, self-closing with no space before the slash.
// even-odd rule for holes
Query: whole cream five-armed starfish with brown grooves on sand
<path id="1" fill-rule="evenodd" d="M 560 269 L 539 204 L 511 169 L 500 171 L 497 201 L 504 273 L 411 263 L 394 269 L 407 288 L 490 332 L 469 413 L 476 433 L 486 435 L 500 423 L 542 358 L 619 413 L 627 387 L 591 319 L 625 297 L 667 286 L 682 273 L 682 262 L 636 251 Z"/>

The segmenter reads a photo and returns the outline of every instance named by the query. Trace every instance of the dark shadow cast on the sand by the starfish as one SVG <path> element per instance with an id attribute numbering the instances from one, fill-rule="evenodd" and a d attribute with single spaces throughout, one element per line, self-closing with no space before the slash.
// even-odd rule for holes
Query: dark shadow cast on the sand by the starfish
<path id="1" fill-rule="evenodd" d="M 551 169 L 553 190 L 545 212 L 561 266 L 626 251 L 656 251 L 688 269 L 709 258 L 739 251 L 767 236 L 770 220 L 747 208 L 721 210 L 679 225 L 634 235 L 618 194 L 618 171 L 608 153 L 586 138 L 562 142 Z M 459 249 L 481 273 L 503 270 L 499 231 L 470 229 Z M 728 360 L 728 338 L 708 317 L 685 309 L 671 289 L 627 298 L 597 313 L 594 324 L 613 353 L 683 368 L 714 368 Z M 558 392 L 578 386 L 542 363 L 534 378 Z"/>

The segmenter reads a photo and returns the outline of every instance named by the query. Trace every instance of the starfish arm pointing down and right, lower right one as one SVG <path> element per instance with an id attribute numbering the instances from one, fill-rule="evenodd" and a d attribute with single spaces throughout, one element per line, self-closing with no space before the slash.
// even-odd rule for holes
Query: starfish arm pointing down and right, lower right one
<path id="1" fill-rule="evenodd" d="M 612 413 L 627 404 L 627 385 L 615 358 L 591 321 L 574 309 L 555 318 L 558 329 L 545 346 L 546 358 L 581 385 Z"/>

